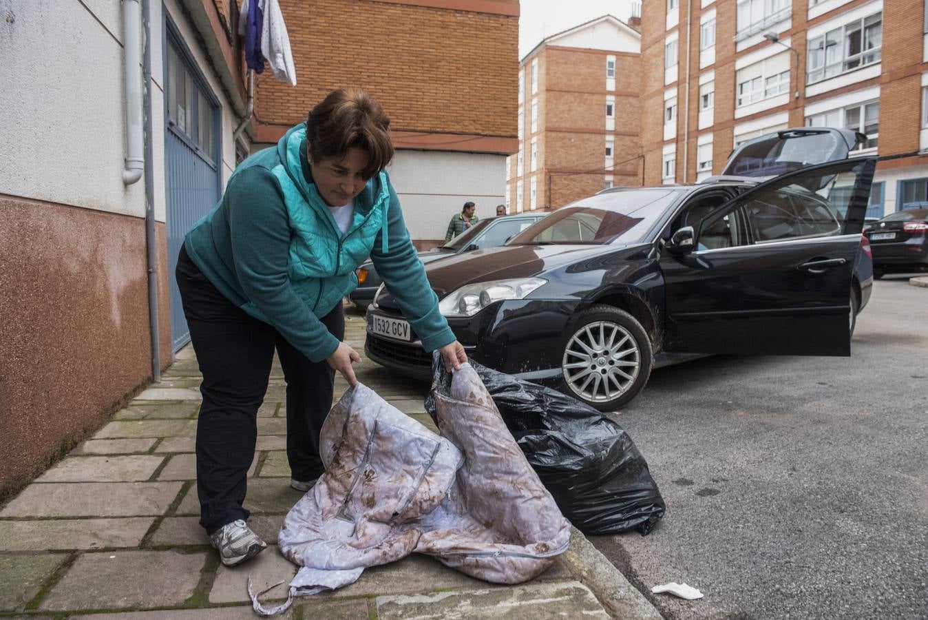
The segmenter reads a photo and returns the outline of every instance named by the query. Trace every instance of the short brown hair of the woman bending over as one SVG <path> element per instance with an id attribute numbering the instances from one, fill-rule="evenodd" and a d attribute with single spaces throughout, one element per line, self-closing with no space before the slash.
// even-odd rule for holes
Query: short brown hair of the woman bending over
<path id="1" fill-rule="evenodd" d="M 306 119 L 306 149 L 313 161 L 343 157 L 348 149 L 367 151 L 370 161 L 361 174 L 369 179 L 393 160 L 390 119 L 363 88 L 333 90 L 310 110 Z"/>

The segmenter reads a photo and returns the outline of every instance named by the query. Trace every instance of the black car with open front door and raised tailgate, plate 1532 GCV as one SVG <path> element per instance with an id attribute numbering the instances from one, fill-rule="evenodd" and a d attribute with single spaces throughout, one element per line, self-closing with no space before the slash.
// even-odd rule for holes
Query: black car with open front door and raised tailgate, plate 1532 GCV
<path id="1" fill-rule="evenodd" d="M 876 160 L 846 159 L 860 137 L 761 136 L 730 158 L 739 175 L 605 190 L 426 271 L 468 355 L 603 410 L 692 355 L 850 355 L 872 285 L 861 227 Z M 381 329 L 394 321 L 406 323 L 381 290 L 367 355 L 428 377 L 415 333 Z"/>

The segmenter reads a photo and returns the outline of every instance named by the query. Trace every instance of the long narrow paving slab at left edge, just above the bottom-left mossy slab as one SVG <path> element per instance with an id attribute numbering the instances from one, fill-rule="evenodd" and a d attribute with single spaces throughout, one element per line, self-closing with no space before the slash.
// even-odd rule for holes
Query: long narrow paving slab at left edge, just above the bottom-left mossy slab
<path id="1" fill-rule="evenodd" d="M 154 517 L 0 521 L 0 550 L 138 547 Z"/>

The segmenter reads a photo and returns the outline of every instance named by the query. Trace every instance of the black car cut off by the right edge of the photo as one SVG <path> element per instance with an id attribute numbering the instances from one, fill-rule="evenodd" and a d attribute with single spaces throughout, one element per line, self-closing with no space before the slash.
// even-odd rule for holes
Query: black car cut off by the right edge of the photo
<path id="1" fill-rule="evenodd" d="M 928 271 L 928 209 L 890 213 L 865 229 L 873 252 L 873 278 Z"/>

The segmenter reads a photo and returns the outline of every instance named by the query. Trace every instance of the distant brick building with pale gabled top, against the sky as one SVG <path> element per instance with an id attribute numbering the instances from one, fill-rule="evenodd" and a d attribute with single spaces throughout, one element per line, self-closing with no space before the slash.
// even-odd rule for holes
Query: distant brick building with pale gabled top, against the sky
<path id="1" fill-rule="evenodd" d="M 604 15 L 547 37 L 522 58 L 509 213 L 640 185 L 640 41 L 637 30 Z"/>

